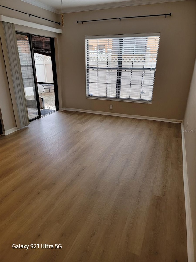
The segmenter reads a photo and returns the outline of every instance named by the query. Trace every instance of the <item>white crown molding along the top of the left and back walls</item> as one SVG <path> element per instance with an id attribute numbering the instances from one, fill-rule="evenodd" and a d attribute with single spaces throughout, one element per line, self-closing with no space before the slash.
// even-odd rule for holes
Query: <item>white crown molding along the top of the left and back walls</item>
<path id="1" fill-rule="evenodd" d="M 56 14 L 61 14 L 61 9 L 56 9 L 51 6 L 44 5 L 39 1 L 35 1 L 35 0 L 21 0 L 21 1 L 34 6 L 38 6 L 40 8 L 43 8 L 45 10 L 51 11 Z M 113 3 L 99 4 L 99 5 L 69 7 L 69 8 L 63 8 L 62 11 L 65 14 L 65 13 L 109 9 L 109 8 L 116 8 L 116 7 L 140 6 L 140 5 L 160 4 L 160 3 L 177 2 L 177 1 L 183 1 L 183 0 L 131 0 L 126 2 L 121 1 L 121 2 L 113 2 Z"/>

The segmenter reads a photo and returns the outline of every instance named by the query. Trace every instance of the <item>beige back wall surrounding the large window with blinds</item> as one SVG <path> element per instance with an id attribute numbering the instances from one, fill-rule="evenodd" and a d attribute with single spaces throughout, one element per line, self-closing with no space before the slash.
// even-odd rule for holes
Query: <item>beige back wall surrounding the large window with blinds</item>
<path id="1" fill-rule="evenodd" d="M 171 17 L 76 21 L 172 13 Z M 60 15 L 58 20 L 60 19 Z M 85 36 L 160 32 L 152 104 L 86 99 Z M 62 50 L 63 107 L 183 119 L 195 57 L 195 1 L 65 14 Z M 109 110 L 109 105 L 113 110 Z"/>

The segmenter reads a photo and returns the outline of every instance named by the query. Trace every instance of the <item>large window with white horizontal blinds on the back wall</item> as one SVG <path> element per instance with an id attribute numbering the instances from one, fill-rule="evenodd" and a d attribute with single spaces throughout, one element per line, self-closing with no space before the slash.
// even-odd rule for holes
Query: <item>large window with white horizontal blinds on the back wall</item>
<path id="1" fill-rule="evenodd" d="M 86 37 L 86 96 L 151 103 L 159 38 L 160 33 Z"/>

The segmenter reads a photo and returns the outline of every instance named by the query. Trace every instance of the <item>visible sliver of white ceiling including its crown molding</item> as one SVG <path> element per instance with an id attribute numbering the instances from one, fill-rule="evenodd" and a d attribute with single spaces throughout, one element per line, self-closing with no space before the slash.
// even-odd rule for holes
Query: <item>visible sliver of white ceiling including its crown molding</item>
<path id="1" fill-rule="evenodd" d="M 22 0 L 34 6 L 61 14 L 61 0 Z M 137 6 L 182 0 L 63 0 L 63 13 L 107 9 L 112 7 Z"/>

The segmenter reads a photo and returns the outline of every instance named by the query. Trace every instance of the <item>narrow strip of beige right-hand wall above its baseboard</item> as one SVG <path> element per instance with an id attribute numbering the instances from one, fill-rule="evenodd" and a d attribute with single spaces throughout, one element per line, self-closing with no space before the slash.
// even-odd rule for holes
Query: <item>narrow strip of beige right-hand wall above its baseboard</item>
<path id="1" fill-rule="evenodd" d="M 184 115 L 184 129 L 189 130 L 195 130 L 195 119 L 196 119 L 196 113 L 195 113 L 195 104 L 196 104 L 196 81 L 195 81 L 195 71 L 196 68 L 194 66 L 194 71 L 193 71 L 193 76 L 192 76 L 192 81 L 190 85 L 190 91 L 189 91 L 189 96 L 187 100 L 187 107 Z M 188 122 L 188 126 L 187 126 Z M 187 127 L 187 128 L 186 128 Z M 196 154 L 195 154 L 195 133 L 193 132 L 185 132 L 185 147 L 186 147 L 186 157 L 187 157 L 187 173 L 188 173 L 188 183 L 189 183 L 189 196 L 190 196 L 190 207 L 191 207 L 191 215 L 192 215 L 192 225 L 193 225 L 193 237 L 194 237 L 194 254 L 195 254 L 195 174 L 196 174 L 196 169 L 195 169 L 195 159 L 196 159 Z M 196 257 L 196 256 L 195 256 Z"/>

